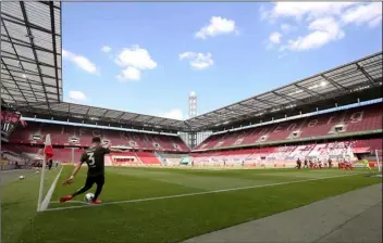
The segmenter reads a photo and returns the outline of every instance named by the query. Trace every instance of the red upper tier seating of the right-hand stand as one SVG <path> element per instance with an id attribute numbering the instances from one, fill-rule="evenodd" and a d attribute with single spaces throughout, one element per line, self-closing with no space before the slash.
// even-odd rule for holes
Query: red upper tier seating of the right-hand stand
<path id="1" fill-rule="evenodd" d="M 195 150 L 240 146 L 294 139 L 361 132 L 382 129 L 382 104 L 292 119 L 239 131 L 212 135 Z"/>

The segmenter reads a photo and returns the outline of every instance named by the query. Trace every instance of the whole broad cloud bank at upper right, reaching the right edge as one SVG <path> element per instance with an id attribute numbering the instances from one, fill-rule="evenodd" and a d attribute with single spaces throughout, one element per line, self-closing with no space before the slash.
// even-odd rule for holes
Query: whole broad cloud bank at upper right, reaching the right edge
<path id="1" fill-rule="evenodd" d="M 307 26 L 308 33 L 289 38 L 285 43 L 273 33 L 268 48 L 281 44 L 280 51 L 307 51 L 323 47 L 345 37 L 346 25 L 368 25 L 375 27 L 382 23 L 381 2 L 276 2 L 269 10 L 260 8 L 263 18 L 275 22 L 291 18 L 297 22 L 292 26 L 282 24 L 283 34 L 291 34 L 297 26 Z M 284 38 L 286 39 L 286 38 Z"/>

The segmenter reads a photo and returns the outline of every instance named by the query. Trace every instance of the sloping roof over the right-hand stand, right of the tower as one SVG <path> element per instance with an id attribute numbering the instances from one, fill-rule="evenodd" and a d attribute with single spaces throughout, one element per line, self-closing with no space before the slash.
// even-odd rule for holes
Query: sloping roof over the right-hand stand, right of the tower
<path id="1" fill-rule="evenodd" d="M 382 86 L 382 52 L 187 120 L 194 130 L 212 129 Z"/>

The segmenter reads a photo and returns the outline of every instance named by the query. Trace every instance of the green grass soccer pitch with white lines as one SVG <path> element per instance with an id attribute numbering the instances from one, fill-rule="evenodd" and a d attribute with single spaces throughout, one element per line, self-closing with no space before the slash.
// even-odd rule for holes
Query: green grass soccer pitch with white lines
<path id="1" fill-rule="evenodd" d="M 86 167 L 37 213 L 39 174 L 2 186 L 3 242 L 180 242 L 381 182 L 366 169 L 107 168 L 102 205 L 84 195 L 55 203 L 85 181 Z M 45 194 L 59 169 L 46 175 Z M 94 192 L 95 188 L 90 190 Z"/>

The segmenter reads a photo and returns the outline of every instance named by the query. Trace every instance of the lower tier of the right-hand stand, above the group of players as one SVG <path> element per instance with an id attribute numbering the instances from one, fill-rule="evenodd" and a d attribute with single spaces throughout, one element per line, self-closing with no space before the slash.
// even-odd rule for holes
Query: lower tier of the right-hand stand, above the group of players
<path id="1" fill-rule="evenodd" d="M 251 166 L 292 167 L 296 159 L 338 159 L 354 153 L 373 153 L 382 148 L 382 139 L 309 143 L 304 145 L 270 146 L 238 151 L 194 153 L 190 159 L 196 166 Z"/>

